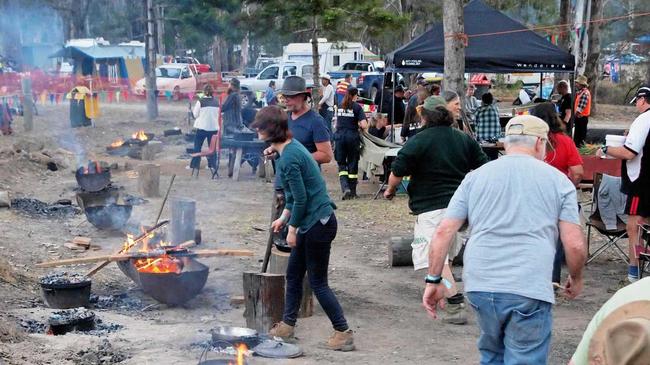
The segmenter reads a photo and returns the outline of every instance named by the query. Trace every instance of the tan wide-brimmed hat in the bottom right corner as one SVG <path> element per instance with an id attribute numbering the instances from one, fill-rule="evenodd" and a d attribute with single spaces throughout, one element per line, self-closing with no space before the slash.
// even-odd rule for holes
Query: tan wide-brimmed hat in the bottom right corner
<path id="1" fill-rule="evenodd" d="M 641 365 L 650 360 L 650 300 L 622 305 L 600 323 L 589 343 L 589 363 Z"/>

